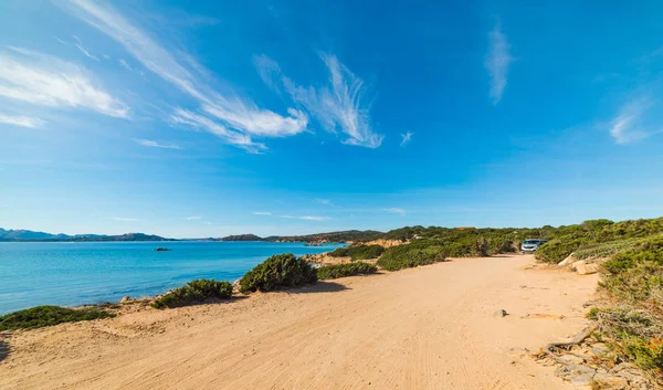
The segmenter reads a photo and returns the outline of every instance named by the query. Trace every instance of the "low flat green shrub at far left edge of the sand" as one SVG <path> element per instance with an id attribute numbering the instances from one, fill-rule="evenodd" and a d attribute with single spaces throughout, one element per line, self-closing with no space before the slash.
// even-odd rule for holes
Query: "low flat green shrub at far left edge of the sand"
<path id="1" fill-rule="evenodd" d="M 60 306 L 36 306 L 0 316 L 0 330 L 41 328 L 62 323 L 108 317 L 115 317 L 115 315 L 95 307 L 74 309 Z"/>

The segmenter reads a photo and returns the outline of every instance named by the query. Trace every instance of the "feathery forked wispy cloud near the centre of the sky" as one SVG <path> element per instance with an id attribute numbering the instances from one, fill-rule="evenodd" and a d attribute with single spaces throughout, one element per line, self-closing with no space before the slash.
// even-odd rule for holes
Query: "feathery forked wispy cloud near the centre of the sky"
<path id="1" fill-rule="evenodd" d="M 357 77 L 336 55 L 322 54 L 329 72 L 329 86 L 303 87 L 285 76 L 278 64 L 266 55 L 254 59 L 263 81 L 273 89 L 281 85 L 292 99 L 302 105 L 327 131 L 343 131 L 348 145 L 377 148 L 385 136 L 373 133 L 369 105 L 362 98 L 367 92 L 364 81 Z"/>

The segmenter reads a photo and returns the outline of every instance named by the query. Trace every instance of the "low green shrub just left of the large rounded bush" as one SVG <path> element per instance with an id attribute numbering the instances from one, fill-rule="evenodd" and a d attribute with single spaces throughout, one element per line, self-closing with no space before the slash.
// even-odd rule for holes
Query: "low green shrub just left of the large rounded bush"
<path id="1" fill-rule="evenodd" d="M 152 302 L 155 308 L 178 307 L 210 298 L 228 299 L 232 296 L 232 284 L 214 280 L 196 280 L 171 289 Z"/>

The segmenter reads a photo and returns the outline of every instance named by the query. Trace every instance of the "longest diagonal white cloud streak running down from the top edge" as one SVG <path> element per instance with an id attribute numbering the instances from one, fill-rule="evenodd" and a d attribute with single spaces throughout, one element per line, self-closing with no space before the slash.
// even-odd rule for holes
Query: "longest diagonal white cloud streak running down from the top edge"
<path id="1" fill-rule="evenodd" d="M 208 74 L 207 70 L 199 72 L 200 65 L 187 53 L 176 56 L 160 45 L 148 33 L 127 21 L 119 12 L 108 4 L 101 4 L 86 0 L 72 0 L 65 8 L 73 11 L 82 20 L 107 34 L 120 43 L 146 68 L 159 77 L 177 86 L 200 104 L 197 120 L 181 115 L 181 108 L 173 114 L 173 122 L 188 124 L 206 129 L 228 144 L 239 146 L 249 151 L 256 151 L 262 144 L 254 144 L 251 136 L 283 137 L 302 133 L 306 129 L 308 118 L 298 110 L 288 109 L 288 116 L 282 116 L 267 109 L 259 108 L 254 102 L 242 98 L 232 89 L 227 88 L 221 94 L 211 87 L 207 81 L 200 80 L 197 74 Z M 192 66 L 190 70 L 188 66 Z M 186 110 L 188 112 L 188 110 Z M 209 116 L 220 120 L 217 123 Z M 186 120 L 178 120 L 186 119 Z M 229 131 L 225 127 L 233 128 Z M 223 130 L 219 130 L 224 128 Z M 236 133 L 242 136 L 236 136 Z M 264 146 L 263 146 L 264 147 Z"/>

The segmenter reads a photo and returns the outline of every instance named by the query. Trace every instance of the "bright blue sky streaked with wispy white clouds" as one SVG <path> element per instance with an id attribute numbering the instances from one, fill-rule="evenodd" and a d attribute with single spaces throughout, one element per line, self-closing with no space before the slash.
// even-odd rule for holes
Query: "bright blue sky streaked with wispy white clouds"
<path id="1" fill-rule="evenodd" d="M 0 4 L 0 226 L 663 215 L 663 3 Z"/>

